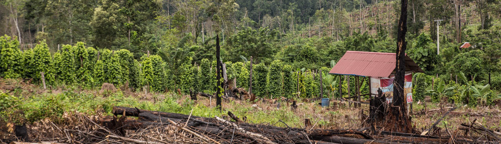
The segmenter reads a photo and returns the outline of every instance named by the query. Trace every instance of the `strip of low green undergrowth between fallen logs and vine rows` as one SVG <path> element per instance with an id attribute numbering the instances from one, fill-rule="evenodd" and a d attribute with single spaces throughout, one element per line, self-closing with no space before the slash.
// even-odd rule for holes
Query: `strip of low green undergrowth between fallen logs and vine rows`
<path id="1" fill-rule="evenodd" d="M 238 117 L 245 116 L 247 122 L 257 124 L 273 124 L 276 126 L 286 125 L 279 120 L 287 123 L 291 127 L 303 127 L 302 118 L 296 116 L 288 107 L 283 106 L 280 109 L 276 107 L 270 110 L 258 110 L 252 106 L 240 106 L 234 101 L 224 102 L 222 111 L 215 107 L 207 107 L 203 104 L 195 103 L 189 97 L 171 94 L 157 93 L 154 97 L 164 97 L 156 102 L 143 100 L 134 96 L 125 96 L 123 92 L 117 91 L 108 93 L 108 96 L 97 95 L 91 92 L 74 92 L 77 90 L 65 90 L 61 93 L 31 93 L 32 95 L 18 95 L 15 93 L 0 93 L 0 116 L 6 122 L 18 124 L 31 123 L 40 119 L 49 117 L 51 120 L 58 121 L 65 112 L 78 111 L 87 114 L 105 114 L 112 115 L 113 106 L 137 107 L 140 109 L 175 112 L 203 117 L 214 117 L 227 115 L 227 111 L 233 112 Z M 22 92 L 20 92 L 22 93 Z M 163 94 L 163 95 L 162 95 Z M 17 96 L 14 96 L 17 95 Z M 160 96 L 162 95 L 162 96 Z M 178 100 L 181 99 L 181 100 Z M 180 102 L 178 102 L 180 101 Z M 247 102 L 247 101 L 242 101 Z M 252 105 L 247 103 L 248 105 Z M 238 106 L 230 106 L 238 105 Z M 229 107 L 229 108 L 226 108 Z M 311 116 L 306 114 L 306 116 Z M 317 119 L 314 119 L 317 120 Z M 320 123 L 327 123 L 319 120 Z"/>

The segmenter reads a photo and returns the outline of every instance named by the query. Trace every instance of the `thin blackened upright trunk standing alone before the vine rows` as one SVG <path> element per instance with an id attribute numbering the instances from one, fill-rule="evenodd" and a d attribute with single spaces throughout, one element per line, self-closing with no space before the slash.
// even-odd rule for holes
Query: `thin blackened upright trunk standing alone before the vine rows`
<path id="1" fill-rule="evenodd" d="M 219 53 L 219 34 L 216 35 L 216 106 L 219 111 L 221 111 L 221 92 L 223 89 L 223 83 L 221 81 L 221 72 L 222 72 L 222 65 L 221 65 L 221 57 Z"/>

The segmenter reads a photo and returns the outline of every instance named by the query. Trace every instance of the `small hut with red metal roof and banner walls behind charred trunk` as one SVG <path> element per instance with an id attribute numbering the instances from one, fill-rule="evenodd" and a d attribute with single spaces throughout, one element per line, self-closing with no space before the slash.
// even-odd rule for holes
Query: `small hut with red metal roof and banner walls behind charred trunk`
<path id="1" fill-rule="evenodd" d="M 370 95 L 378 95 L 381 88 L 387 102 L 393 99 L 393 79 L 396 67 L 395 53 L 346 51 L 329 74 L 370 77 Z M 405 88 L 407 102 L 412 102 L 412 72 L 424 72 L 407 54 L 405 55 Z"/>

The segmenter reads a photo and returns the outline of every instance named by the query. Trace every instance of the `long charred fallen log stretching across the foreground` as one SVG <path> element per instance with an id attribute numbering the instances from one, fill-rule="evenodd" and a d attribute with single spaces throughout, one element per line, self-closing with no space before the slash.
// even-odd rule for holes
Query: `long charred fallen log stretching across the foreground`
<path id="1" fill-rule="evenodd" d="M 185 123 L 188 121 L 186 128 L 193 132 L 218 135 L 226 138 L 245 137 L 246 140 L 257 141 L 259 143 L 275 143 L 288 140 L 292 143 L 310 143 L 312 140 L 320 140 L 330 143 L 446 143 L 448 138 L 438 136 L 419 135 L 412 133 L 399 133 L 382 131 L 382 135 L 386 136 L 371 136 L 356 129 L 311 129 L 294 127 L 278 127 L 273 125 L 249 124 L 245 122 L 233 123 L 228 120 L 215 117 L 200 117 L 193 116 L 188 119 L 189 115 L 180 113 L 169 113 L 160 111 L 150 111 L 131 107 L 113 108 L 114 114 L 138 115 L 140 120 L 134 123 L 124 123 L 124 127 L 144 128 L 147 126 L 160 126 L 169 124 L 169 119 L 176 123 Z M 241 121 L 231 112 L 228 115 L 235 121 Z M 231 116 L 232 115 L 232 116 Z M 129 120 L 126 120 L 129 121 Z M 162 121 L 162 123 L 154 122 Z M 286 124 L 287 125 L 287 124 Z M 135 126 L 135 127 L 134 127 Z M 131 129 L 132 129 L 131 128 Z M 233 130 L 234 129 L 234 130 Z M 210 135 L 209 134 L 209 135 Z M 387 136 L 392 135 L 392 136 Z M 203 138 L 202 138 L 203 139 Z M 211 140 L 210 140 L 211 141 Z M 473 141 L 455 139 L 456 142 L 474 143 Z M 213 141 L 212 141 L 213 142 Z M 287 143 L 287 142 L 286 142 Z"/>

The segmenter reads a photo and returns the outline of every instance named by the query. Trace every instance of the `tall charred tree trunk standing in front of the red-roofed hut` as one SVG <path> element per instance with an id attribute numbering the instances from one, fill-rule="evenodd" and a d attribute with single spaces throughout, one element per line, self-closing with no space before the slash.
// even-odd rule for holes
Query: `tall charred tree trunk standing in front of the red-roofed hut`
<path id="1" fill-rule="evenodd" d="M 393 85 L 393 101 L 386 116 L 388 130 L 412 132 L 411 118 L 407 114 L 407 102 L 404 95 L 405 76 L 405 33 L 407 32 L 407 0 L 400 2 L 400 19 L 398 20 L 397 50 L 395 63 L 395 81 Z"/>

